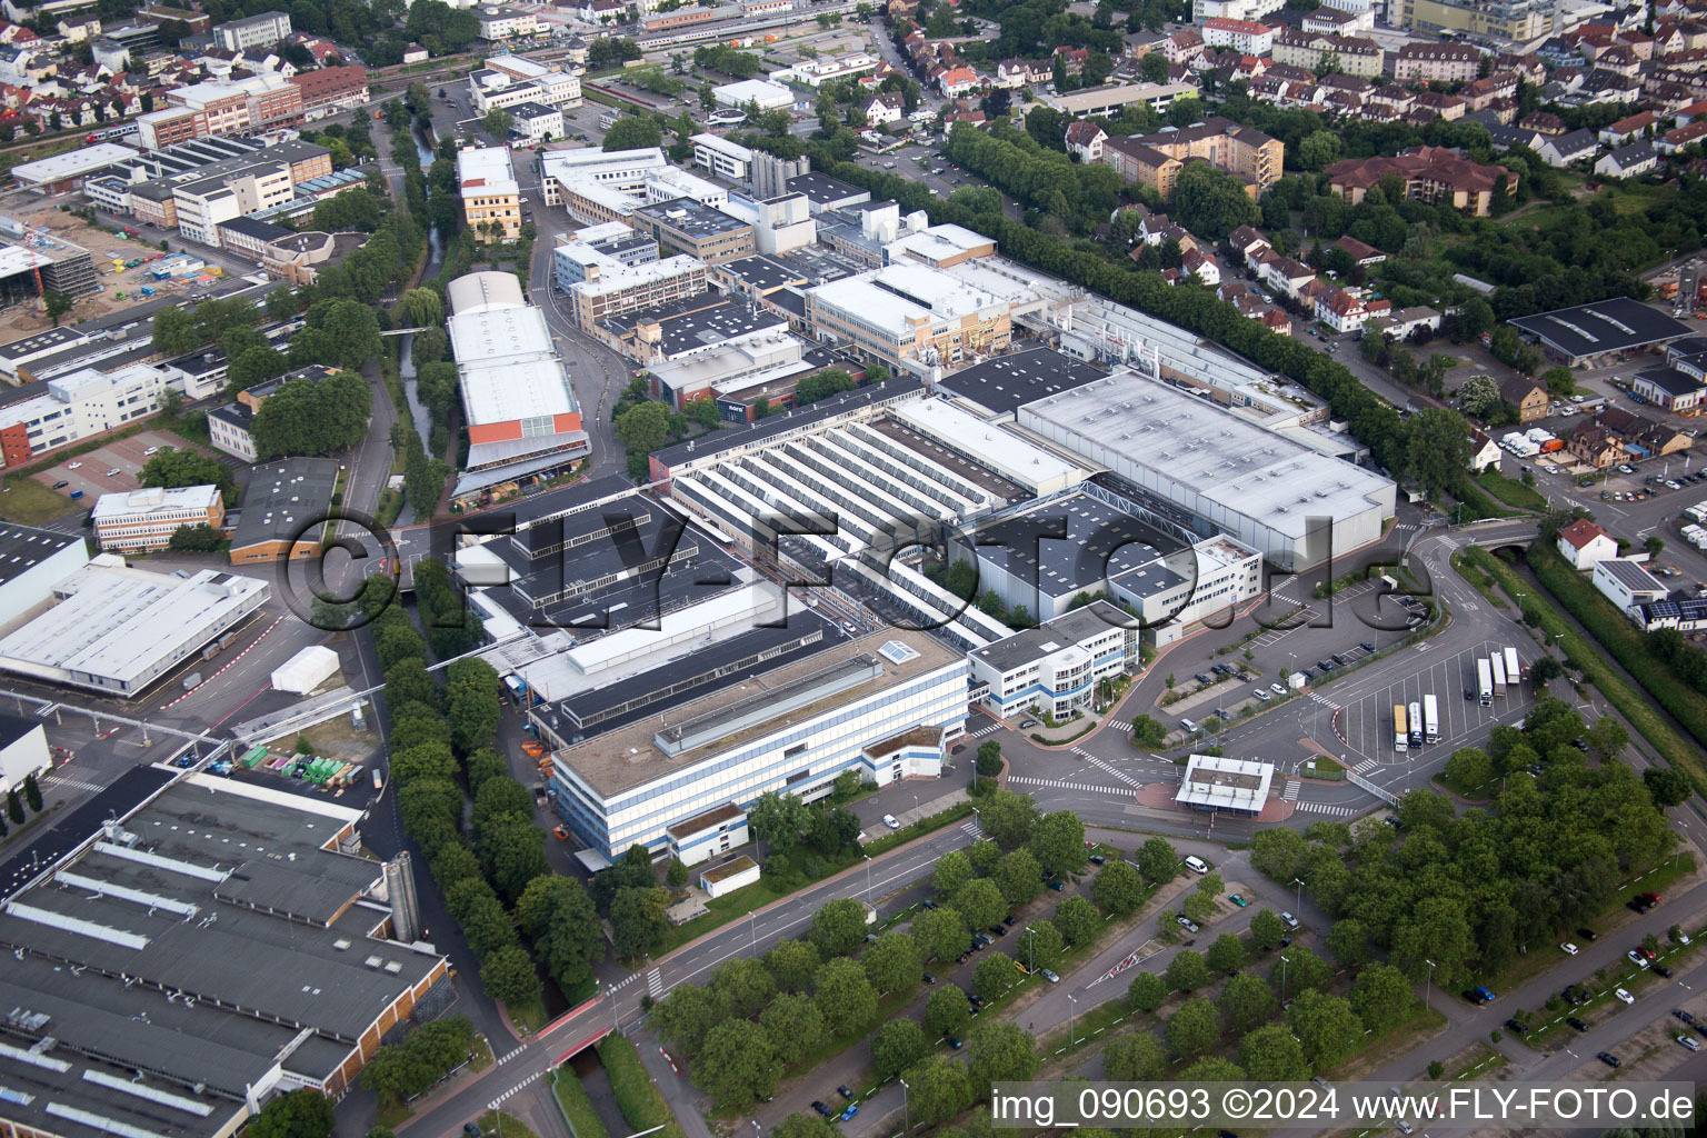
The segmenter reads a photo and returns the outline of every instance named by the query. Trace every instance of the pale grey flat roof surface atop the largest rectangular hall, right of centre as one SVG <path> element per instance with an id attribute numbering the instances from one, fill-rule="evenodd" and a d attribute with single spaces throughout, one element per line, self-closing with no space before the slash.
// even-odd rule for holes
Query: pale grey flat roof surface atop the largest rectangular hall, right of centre
<path id="1" fill-rule="evenodd" d="M 1263 430 L 1173 384 L 1120 370 L 1019 408 L 1043 435 L 1121 456 L 1198 502 L 1198 514 L 1258 519 L 1301 537 L 1311 517 L 1347 519 L 1391 502 L 1391 479 Z M 1173 496 L 1173 495 L 1164 495 Z"/>

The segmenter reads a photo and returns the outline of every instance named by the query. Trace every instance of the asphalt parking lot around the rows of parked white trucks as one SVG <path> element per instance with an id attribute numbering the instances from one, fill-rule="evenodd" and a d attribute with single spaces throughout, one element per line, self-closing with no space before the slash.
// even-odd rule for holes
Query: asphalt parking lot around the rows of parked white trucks
<path id="1" fill-rule="evenodd" d="M 1325 698 L 1331 700 L 1331 705 L 1325 705 L 1323 713 L 1331 720 L 1333 732 L 1318 737 L 1338 737 L 1354 766 L 1359 766 L 1359 761 L 1371 766 L 1413 761 L 1419 758 L 1417 749 L 1396 751 L 1393 746 L 1393 706 L 1422 703 L 1430 693 L 1439 705 L 1441 739 L 1434 744 L 1425 742 L 1424 754 L 1449 752 L 1463 739 L 1494 722 L 1514 723 L 1529 705 L 1528 684 L 1507 684 L 1506 694 L 1495 694 L 1490 706 L 1482 706 L 1477 700 L 1477 660 L 1502 647 L 1485 640 L 1454 655 L 1430 657 L 1430 645 L 1424 642 L 1415 648 L 1424 660 L 1419 671 L 1369 688 L 1330 689 Z M 1533 652 L 1529 645 L 1514 647 L 1519 653 Z"/>

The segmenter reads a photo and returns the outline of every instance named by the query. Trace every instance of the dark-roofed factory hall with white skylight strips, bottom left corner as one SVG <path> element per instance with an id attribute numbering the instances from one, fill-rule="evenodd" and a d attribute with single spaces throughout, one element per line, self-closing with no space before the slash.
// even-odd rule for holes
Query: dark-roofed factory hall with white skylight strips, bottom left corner
<path id="1" fill-rule="evenodd" d="M 362 856 L 358 805 L 147 775 L 5 899 L 0 1131 L 224 1138 L 277 1094 L 341 1095 L 451 1000 L 408 855 Z"/>

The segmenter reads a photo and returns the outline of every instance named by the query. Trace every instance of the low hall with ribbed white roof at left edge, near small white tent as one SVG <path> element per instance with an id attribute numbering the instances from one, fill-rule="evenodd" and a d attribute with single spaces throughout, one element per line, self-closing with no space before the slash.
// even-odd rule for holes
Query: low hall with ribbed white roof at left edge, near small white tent
<path id="1" fill-rule="evenodd" d="M 58 582 L 53 595 L 56 606 L 0 640 L 0 671 L 137 698 L 254 616 L 271 587 L 220 570 L 179 578 L 104 558 Z"/>

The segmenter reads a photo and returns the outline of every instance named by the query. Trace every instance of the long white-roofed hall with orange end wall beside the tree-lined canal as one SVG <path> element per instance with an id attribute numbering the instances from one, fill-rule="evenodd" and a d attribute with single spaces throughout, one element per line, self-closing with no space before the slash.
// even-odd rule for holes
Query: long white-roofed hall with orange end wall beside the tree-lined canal
<path id="1" fill-rule="evenodd" d="M 446 299 L 469 442 L 452 500 L 486 502 L 574 469 L 587 432 L 545 312 L 514 273 L 457 276 Z"/>

